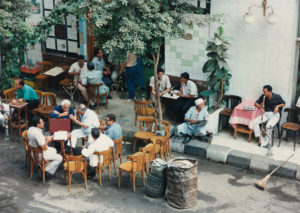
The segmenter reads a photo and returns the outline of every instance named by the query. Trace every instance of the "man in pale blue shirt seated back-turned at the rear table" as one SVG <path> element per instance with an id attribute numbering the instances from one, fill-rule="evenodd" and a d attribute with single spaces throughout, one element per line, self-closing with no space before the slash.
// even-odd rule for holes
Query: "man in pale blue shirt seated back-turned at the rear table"
<path id="1" fill-rule="evenodd" d="M 92 62 L 89 62 L 87 64 L 87 67 L 88 67 L 89 71 L 82 77 L 82 84 L 83 85 L 87 85 L 88 83 L 89 84 L 100 84 L 100 83 L 103 84 L 102 71 L 95 70 L 95 66 Z M 108 94 L 109 93 L 109 88 L 107 86 L 105 86 L 104 84 L 102 86 L 100 86 L 98 89 L 99 89 L 99 94 L 104 94 L 104 93 Z M 105 97 L 101 98 L 100 103 L 102 105 L 104 105 L 106 103 Z M 94 107 L 94 106 L 95 106 L 95 103 L 94 103 L 94 100 L 92 100 L 91 107 Z"/>

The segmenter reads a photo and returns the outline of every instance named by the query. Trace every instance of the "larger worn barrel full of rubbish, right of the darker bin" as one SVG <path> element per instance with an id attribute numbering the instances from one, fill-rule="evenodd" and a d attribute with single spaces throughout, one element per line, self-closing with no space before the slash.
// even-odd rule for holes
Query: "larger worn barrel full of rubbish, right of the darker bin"
<path id="1" fill-rule="evenodd" d="M 180 167 L 176 164 L 189 162 L 189 167 Z M 190 208 L 197 203 L 198 192 L 198 162 L 192 159 L 175 159 L 167 171 L 166 199 L 169 205 L 178 208 Z"/>

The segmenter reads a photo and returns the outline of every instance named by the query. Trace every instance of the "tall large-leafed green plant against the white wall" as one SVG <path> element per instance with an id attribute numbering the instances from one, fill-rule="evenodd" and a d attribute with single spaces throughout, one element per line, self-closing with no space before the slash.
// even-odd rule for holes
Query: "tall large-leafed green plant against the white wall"
<path id="1" fill-rule="evenodd" d="M 208 61 L 203 65 L 203 72 L 209 73 L 206 94 L 214 94 L 217 98 L 217 107 L 221 107 L 223 97 L 229 90 L 229 81 L 232 77 L 228 66 L 228 49 L 230 43 L 223 37 L 223 28 L 219 27 L 214 37 L 207 42 Z"/>

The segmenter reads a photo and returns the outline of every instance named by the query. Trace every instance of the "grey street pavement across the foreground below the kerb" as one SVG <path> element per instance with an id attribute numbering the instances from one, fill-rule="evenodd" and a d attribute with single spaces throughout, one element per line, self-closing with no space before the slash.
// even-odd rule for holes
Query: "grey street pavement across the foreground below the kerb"
<path id="1" fill-rule="evenodd" d="M 127 150 L 131 150 L 130 144 L 124 146 L 124 155 Z M 147 197 L 140 177 L 133 193 L 128 176 L 122 178 L 119 189 L 117 176 L 113 174 L 109 181 L 104 172 L 103 186 L 93 178 L 88 180 L 87 190 L 75 176 L 69 193 L 62 168 L 46 184 L 37 173 L 31 180 L 24 167 L 22 141 L 13 137 L 11 141 L 0 140 L 0 212 L 300 212 L 297 181 L 274 176 L 267 190 L 260 191 L 253 183 L 264 174 L 206 160 L 199 160 L 198 174 L 197 205 L 184 211 L 170 207 L 163 199 Z"/>

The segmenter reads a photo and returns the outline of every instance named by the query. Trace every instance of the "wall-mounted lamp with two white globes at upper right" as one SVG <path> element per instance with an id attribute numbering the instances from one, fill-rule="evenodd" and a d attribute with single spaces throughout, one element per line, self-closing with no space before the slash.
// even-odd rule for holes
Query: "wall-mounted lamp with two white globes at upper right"
<path id="1" fill-rule="evenodd" d="M 268 0 L 263 0 L 260 6 L 251 5 L 248 9 L 248 12 L 244 15 L 244 21 L 247 24 L 252 24 L 255 22 L 255 17 L 251 12 L 251 9 L 255 7 L 255 8 L 262 8 L 264 16 L 266 16 L 267 10 L 271 10 L 270 13 L 268 14 L 267 22 L 269 24 L 276 24 L 278 22 L 278 17 L 274 14 L 273 8 L 271 6 L 268 6 L 267 4 L 268 4 Z"/>

